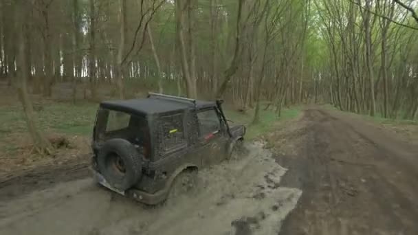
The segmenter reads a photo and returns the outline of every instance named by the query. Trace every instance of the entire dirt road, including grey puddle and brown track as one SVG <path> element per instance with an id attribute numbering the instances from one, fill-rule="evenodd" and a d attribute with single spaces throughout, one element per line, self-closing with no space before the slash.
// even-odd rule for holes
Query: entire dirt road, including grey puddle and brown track
<path id="1" fill-rule="evenodd" d="M 316 107 L 266 138 L 153 208 L 94 184 L 87 162 L 0 180 L 0 234 L 418 234 L 416 146 Z"/>

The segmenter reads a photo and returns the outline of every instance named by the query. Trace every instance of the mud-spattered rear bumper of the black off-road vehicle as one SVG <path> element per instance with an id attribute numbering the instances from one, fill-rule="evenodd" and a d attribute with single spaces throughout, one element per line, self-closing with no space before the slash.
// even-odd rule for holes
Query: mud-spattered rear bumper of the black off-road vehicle
<path id="1" fill-rule="evenodd" d="M 158 192 L 155 192 L 153 194 L 144 192 L 142 190 L 137 190 L 135 188 L 130 188 L 129 190 L 125 190 L 122 192 L 111 187 L 109 183 L 107 183 L 107 181 L 99 172 L 93 169 L 91 169 L 91 171 L 93 172 L 94 181 L 96 181 L 100 185 L 104 186 L 105 188 L 108 188 L 109 190 L 112 190 L 113 192 L 122 194 L 125 197 L 130 197 L 134 199 L 135 201 L 139 201 L 140 203 L 144 203 L 146 205 L 157 205 L 165 201 L 167 198 L 168 190 L 169 190 L 168 187 L 162 190 L 159 190 Z"/>

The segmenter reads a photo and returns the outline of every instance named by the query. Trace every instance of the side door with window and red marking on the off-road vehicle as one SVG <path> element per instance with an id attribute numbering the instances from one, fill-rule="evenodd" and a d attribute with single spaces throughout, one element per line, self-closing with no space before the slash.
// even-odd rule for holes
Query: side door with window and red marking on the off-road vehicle
<path id="1" fill-rule="evenodd" d="M 225 158 L 228 137 L 221 128 L 218 112 L 214 108 L 197 111 L 202 165 L 209 165 Z"/>

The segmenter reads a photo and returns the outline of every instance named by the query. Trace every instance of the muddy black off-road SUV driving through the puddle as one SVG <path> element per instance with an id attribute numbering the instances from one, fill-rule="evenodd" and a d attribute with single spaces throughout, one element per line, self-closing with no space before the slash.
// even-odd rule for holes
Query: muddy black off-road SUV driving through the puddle
<path id="1" fill-rule="evenodd" d="M 228 125 L 222 101 L 148 93 L 100 104 L 92 168 L 98 183 L 146 203 L 164 201 L 184 176 L 228 159 L 245 127 Z"/>

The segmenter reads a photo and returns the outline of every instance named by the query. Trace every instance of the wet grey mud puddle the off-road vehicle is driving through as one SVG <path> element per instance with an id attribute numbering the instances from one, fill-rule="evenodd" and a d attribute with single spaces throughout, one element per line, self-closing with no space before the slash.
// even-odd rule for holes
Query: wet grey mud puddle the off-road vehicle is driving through
<path id="1" fill-rule="evenodd" d="M 149 207 L 94 185 L 69 181 L 1 204 L 0 234 L 277 234 L 300 194 L 279 186 L 286 169 L 263 144 L 203 169 L 201 187 Z"/>

